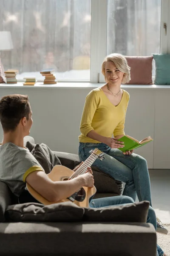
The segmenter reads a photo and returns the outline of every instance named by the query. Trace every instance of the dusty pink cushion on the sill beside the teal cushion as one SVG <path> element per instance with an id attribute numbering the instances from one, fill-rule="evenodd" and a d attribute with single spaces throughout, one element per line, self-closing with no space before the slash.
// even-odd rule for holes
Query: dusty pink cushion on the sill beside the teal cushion
<path id="1" fill-rule="evenodd" d="M 125 56 L 130 69 L 130 81 L 127 84 L 153 84 L 153 56 Z"/>

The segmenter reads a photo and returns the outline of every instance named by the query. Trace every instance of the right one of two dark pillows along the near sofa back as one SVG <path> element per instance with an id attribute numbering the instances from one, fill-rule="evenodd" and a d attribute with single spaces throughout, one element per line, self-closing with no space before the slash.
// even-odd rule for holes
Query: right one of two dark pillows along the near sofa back
<path id="1" fill-rule="evenodd" d="M 149 202 L 124 206 L 85 208 L 84 221 L 146 222 Z"/>

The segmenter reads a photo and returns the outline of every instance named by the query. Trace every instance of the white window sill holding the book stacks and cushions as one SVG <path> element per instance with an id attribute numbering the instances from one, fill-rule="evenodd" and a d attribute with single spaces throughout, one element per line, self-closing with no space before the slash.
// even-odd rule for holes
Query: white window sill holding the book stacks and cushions
<path id="1" fill-rule="evenodd" d="M 85 83 L 85 82 L 58 82 L 57 84 L 43 84 L 43 82 L 37 82 L 34 86 L 23 85 L 23 82 L 18 82 L 17 84 L 0 84 L 0 88 L 97 88 L 104 85 L 104 83 Z M 147 84 L 122 84 L 122 89 L 170 89 L 170 85 L 147 85 Z"/>

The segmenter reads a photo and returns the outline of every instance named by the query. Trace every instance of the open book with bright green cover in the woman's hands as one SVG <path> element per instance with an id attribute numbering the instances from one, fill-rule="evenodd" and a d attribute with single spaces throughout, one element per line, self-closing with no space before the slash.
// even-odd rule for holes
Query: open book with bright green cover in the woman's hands
<path id="1" fill-rule="evenodd" d="M 118 141 L 123 141 L 125 145 L 125 147 L 123 148 L 119 148 L 121 151 L 125 152 L 125 151 L 130 151 L 132 149 L 135 148 L 139 148 L 147 143 L 149 143 L 150 141 L 153 141 L 153 139 L 149 136 L 144 138 L 143 140 L 139 141 L 134 139 L 133 137 L 130 137 L 128 135 L 123 136 L 122 138 L 120 138 Z"/>

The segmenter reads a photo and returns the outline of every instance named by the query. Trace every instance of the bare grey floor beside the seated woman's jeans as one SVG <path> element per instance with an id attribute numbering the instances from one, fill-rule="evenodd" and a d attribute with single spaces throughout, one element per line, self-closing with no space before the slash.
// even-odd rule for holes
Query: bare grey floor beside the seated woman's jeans
<path id="1" fill-rule="evenodd" d="M 170 170 L 150 169 L 152 205 L 162 223 L 170 223 Z"/>

